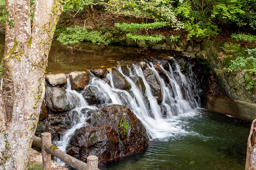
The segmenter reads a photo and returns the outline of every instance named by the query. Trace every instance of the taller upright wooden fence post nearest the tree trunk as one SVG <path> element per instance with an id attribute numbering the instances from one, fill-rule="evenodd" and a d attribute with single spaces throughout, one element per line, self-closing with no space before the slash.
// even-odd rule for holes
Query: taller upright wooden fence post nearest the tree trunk
<path id="1" fill-rule="evenodd" d="M 45 149 L 44 146 L 46 144 L 52 144 L 51 140 L 51 133 L 42 133 L 42 158 L 43 158 L 43 170 L 51 170 L 51 154 L 49 154 Z"/>

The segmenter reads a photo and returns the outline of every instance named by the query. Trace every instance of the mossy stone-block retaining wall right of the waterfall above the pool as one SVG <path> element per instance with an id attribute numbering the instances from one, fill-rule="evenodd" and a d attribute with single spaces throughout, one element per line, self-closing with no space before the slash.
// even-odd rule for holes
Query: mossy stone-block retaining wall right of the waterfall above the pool
<path id="1" fill-rule="evenodd" d="M 246 79 L 255 79 L 256 76 L 244 70 L 228 73 L 222 70 L 226 66 L 225 59 L 219 54 L 220 44 L 210 40 L 201 44 L 201 52 L 197 58 L 203 59 L 209 64 L 210 75 L 207 90 L 214 96 L 226 96 L 231 99 L 256 103 L 256 87 L 247 90 Z"/>

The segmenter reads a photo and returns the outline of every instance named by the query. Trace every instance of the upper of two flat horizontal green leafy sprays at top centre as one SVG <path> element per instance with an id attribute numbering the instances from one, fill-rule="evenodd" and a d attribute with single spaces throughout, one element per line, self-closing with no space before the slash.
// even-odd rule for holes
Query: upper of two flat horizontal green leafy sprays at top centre
<path id="1" fill-rule="evenodd" d="M 167 22 L 154 22 L 154 23 L 142 23 L 142 24 L 137 24 L 137 23 L 115 23 L 115 27 L 118 27 L 121 29 L 123 32 L 135 32 L 138 29 L 156 29 L 156 28 L 161 28 L 166 26 Z"/>

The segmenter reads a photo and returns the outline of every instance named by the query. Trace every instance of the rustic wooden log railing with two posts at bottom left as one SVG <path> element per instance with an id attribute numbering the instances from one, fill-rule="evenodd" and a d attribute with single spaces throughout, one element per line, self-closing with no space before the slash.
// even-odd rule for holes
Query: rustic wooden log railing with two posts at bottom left
<path id="1" fill-rule="evenodd" d="M 42 148 L 43 170 L 51 169 L 51 155 L 59 158 L 64 163 L 77 170 L 100 170 L 98 169 L 97 156 L 88 156 L 86 164 L 61 151 L 55 145 L 52 145 L 51 133 L 42 133 L 41 137 L 42 138 L 34 137 L 32 146 Z"/>

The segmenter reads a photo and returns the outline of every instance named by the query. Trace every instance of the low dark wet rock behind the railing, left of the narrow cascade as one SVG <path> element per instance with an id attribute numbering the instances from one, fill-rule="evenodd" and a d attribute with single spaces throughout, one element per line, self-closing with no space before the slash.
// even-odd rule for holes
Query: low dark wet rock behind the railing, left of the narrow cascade
<path id="1" fill-rule="evenodd" d="M 66 113 L 55 114 L 38 122 L 35 135 L 40 137 L 42 133 L 51 133 L 52 141 L 59 141 L 64 132 L 71 128 L 71 122 Z"/>

